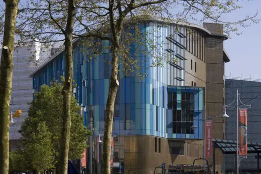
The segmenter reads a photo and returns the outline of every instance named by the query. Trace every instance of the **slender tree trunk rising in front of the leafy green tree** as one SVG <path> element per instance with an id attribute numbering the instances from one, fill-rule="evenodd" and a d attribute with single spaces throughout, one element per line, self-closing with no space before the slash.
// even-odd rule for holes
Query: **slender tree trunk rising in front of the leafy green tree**
<path id="1" fill-rule="evenodd" d="M 72 33 L 75 16 L 75 0 L 68 0 L 68 17 L 65 30 L 65 53 L 66 53 L 66 76 L 63 86 L 63 121 L 61 132 L 61 149 L 59 160 L 59 174 L 67 174 L 68 154 L 71 128 L 71 98 L 72 98 L 72 68 L 73 68 L 73 45 Z"/>

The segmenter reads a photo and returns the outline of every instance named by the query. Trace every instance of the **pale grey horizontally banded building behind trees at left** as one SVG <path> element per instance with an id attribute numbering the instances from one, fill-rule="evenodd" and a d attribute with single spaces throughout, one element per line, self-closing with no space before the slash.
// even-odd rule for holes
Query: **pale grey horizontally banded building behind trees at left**
<path id="1" fill-rule="evenodd" d="M 19 118 L 14 118 L 15 125 L 10 125 L 10 147 L 13 150 L 21 146 L 19 141 L 21 134 L 18 131 L 21 129 L 22 122 L 28 116 L 28 104 L 33 100 L 35 92 L 29 74 L 47 57 L 50 57 L 50 51 L 50 49 L 45 49 L 45 52 L 43 52 L 39 43 L 33 43 L 30 47 L 15 48 L 14 50 L 10 112 L 14 114 L 17 110 L 22 110 L 22 113 Z M 2 53 L 2 49 L 0 49 L 0 52 Z"/>

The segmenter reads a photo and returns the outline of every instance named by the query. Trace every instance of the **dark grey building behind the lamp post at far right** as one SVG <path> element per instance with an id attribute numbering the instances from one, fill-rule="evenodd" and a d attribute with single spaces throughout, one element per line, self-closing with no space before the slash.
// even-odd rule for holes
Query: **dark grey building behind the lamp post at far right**
<path id="1" fill-rule="evenodd" d="M 236 90 L 240 94 L 242 103 L 251 105 L 247 110 L 247 141 L 261 143 L 261 80 L 257 79 L 241 79 L 227 78 L 225 80 L 226 104 L 233 101 L 236 106 Z M 239 101 L 239 105 L 241 105 Z M 226 109 L 229 118 L 226 122 L 225 136 L 226 139 L 236 140 L 236 109 Z M 239 171 L 247 173 L 256 173 L 257 170 L 257 154 L 247 154 L 247 158 L 240 161 Z M 235 170 L 235 155 L 225 155 L 225 170 L 232 172 Z"/>

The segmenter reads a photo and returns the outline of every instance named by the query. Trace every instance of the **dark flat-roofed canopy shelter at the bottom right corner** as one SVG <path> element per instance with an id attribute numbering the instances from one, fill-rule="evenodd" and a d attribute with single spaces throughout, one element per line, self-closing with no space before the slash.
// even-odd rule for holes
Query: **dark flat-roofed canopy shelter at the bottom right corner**
<path id="1" fill-rule="evenodd" d="M 236 154 L 236 141 L 226 139 L 212 139 L 213 143 L 213 162 L 215 161 L 215 148 L 221 149 L 223 154 Z M 259 153 L 261 152 L 261 143 L 247 142 L 247 153 L 257 154 L 257 173 L 259 172 Z M 236 161 L 237 165 L 237 161 Z M 235 165 L 235 166 L 236 166 Z M 213 173 L 215 164 L 213 163 Z"/>

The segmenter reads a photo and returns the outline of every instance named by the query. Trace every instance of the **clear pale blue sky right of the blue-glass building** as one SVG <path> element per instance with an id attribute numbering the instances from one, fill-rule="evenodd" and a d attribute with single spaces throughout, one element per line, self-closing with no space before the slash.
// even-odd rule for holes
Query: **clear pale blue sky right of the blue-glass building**
<path id="1" fill-rule="evenodd" d="M 243 9 L 238 14 L 231 14 L 224 19 L 243 18 L 247 14 L 253 14 L 257 10 L 261 19 L 261 1 L 244 1 Z M 230 62 L 225 64 L 225 75 L 261 79 L 261 23 L 251 25 L 248 28 L 240 28 L 242 34 L 230 35 L 230 39 L 224 41 L 224 49 L 230 57 Z"/>

